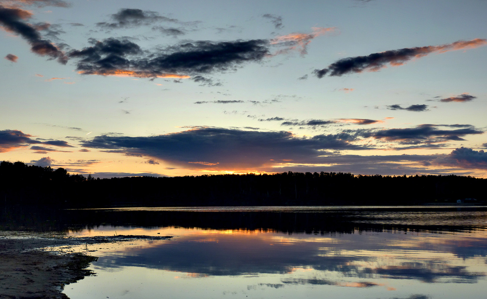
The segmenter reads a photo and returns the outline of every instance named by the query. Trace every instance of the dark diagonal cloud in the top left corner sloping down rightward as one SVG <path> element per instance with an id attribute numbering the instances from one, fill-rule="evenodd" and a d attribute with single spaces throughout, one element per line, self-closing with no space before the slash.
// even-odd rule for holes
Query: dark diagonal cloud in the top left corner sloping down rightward
<path id="1" fill-rule="evenodd" d="M 31 18 L 32 13 L 19 8 L 6 8 L 0 5 L 0 25 L 7 31 L 22 36 L 31 45 L 31 51 L 41 55 L 57 59 L 66 64 L 65 54 L 50 40 L 42 38 L 39 31 L 25 19 Z"/>

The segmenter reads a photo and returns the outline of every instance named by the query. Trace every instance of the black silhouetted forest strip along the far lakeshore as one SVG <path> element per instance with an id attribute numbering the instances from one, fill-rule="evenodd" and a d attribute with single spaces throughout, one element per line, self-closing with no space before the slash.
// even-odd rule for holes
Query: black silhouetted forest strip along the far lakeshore
<path id="1" fill-rule="evenodd" d="M 0 163 L 0 205 L 329 206 L 483 204 L 487 179 L 471 176 L 361 176 L 350 173 L 227 174 L 94 178 L 23 162 Z"/>

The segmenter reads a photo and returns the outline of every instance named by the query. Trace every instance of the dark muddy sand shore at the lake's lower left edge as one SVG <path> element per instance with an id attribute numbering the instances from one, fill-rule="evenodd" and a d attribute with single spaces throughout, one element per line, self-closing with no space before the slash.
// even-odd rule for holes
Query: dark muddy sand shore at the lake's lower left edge
<path id="1" fill-rule="evenodd" d="M 94 273 L 86 269 L 97 258 L 72 252 L 72 246 L 118 243 L 170 236 L 67 238 L 62 234 L 0 231 L 0 299 L 68 299 L 66 284 Z"/>

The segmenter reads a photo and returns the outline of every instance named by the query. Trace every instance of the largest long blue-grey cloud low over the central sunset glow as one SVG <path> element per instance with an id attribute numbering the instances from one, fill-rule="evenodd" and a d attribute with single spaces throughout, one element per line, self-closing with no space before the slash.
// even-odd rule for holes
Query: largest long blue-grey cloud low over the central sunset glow
<path id="1" fill-rule="evenodd" d="M 283 160 L 310 161 L 324 150 L 366 149 L 350 143 L 350 134 L 296 137 L 290 132 L 260 132 L 224 128 L 191 130 L 150 137 L 96 136 L 81 145 L 124 151 L 198 168 L 254 169 Z M 207 164 L 200 164 L 205 161 Z"/>

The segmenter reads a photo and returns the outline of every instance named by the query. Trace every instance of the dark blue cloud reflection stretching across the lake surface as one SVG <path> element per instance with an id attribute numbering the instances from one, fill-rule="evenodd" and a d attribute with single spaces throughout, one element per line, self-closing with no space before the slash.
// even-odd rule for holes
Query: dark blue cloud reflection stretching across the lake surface
<path id="1" fill-rule="evenodd" d="M 284 275 L 309 269 L 326 277 L 284 277 L 285 284 L 371 287 L 378 285 L 372 280 L 384 279 L 475 283 L 486 273 L 471 269 L 465 259 L 478 260 L 487 253 L 485 233 L 475 234 L 468 238 L 454 233 L 387 232 L 322 236 L 210 230 L 120 248 L 94 265 L 98 269 L 140 266 L 197 277 Z"/>

